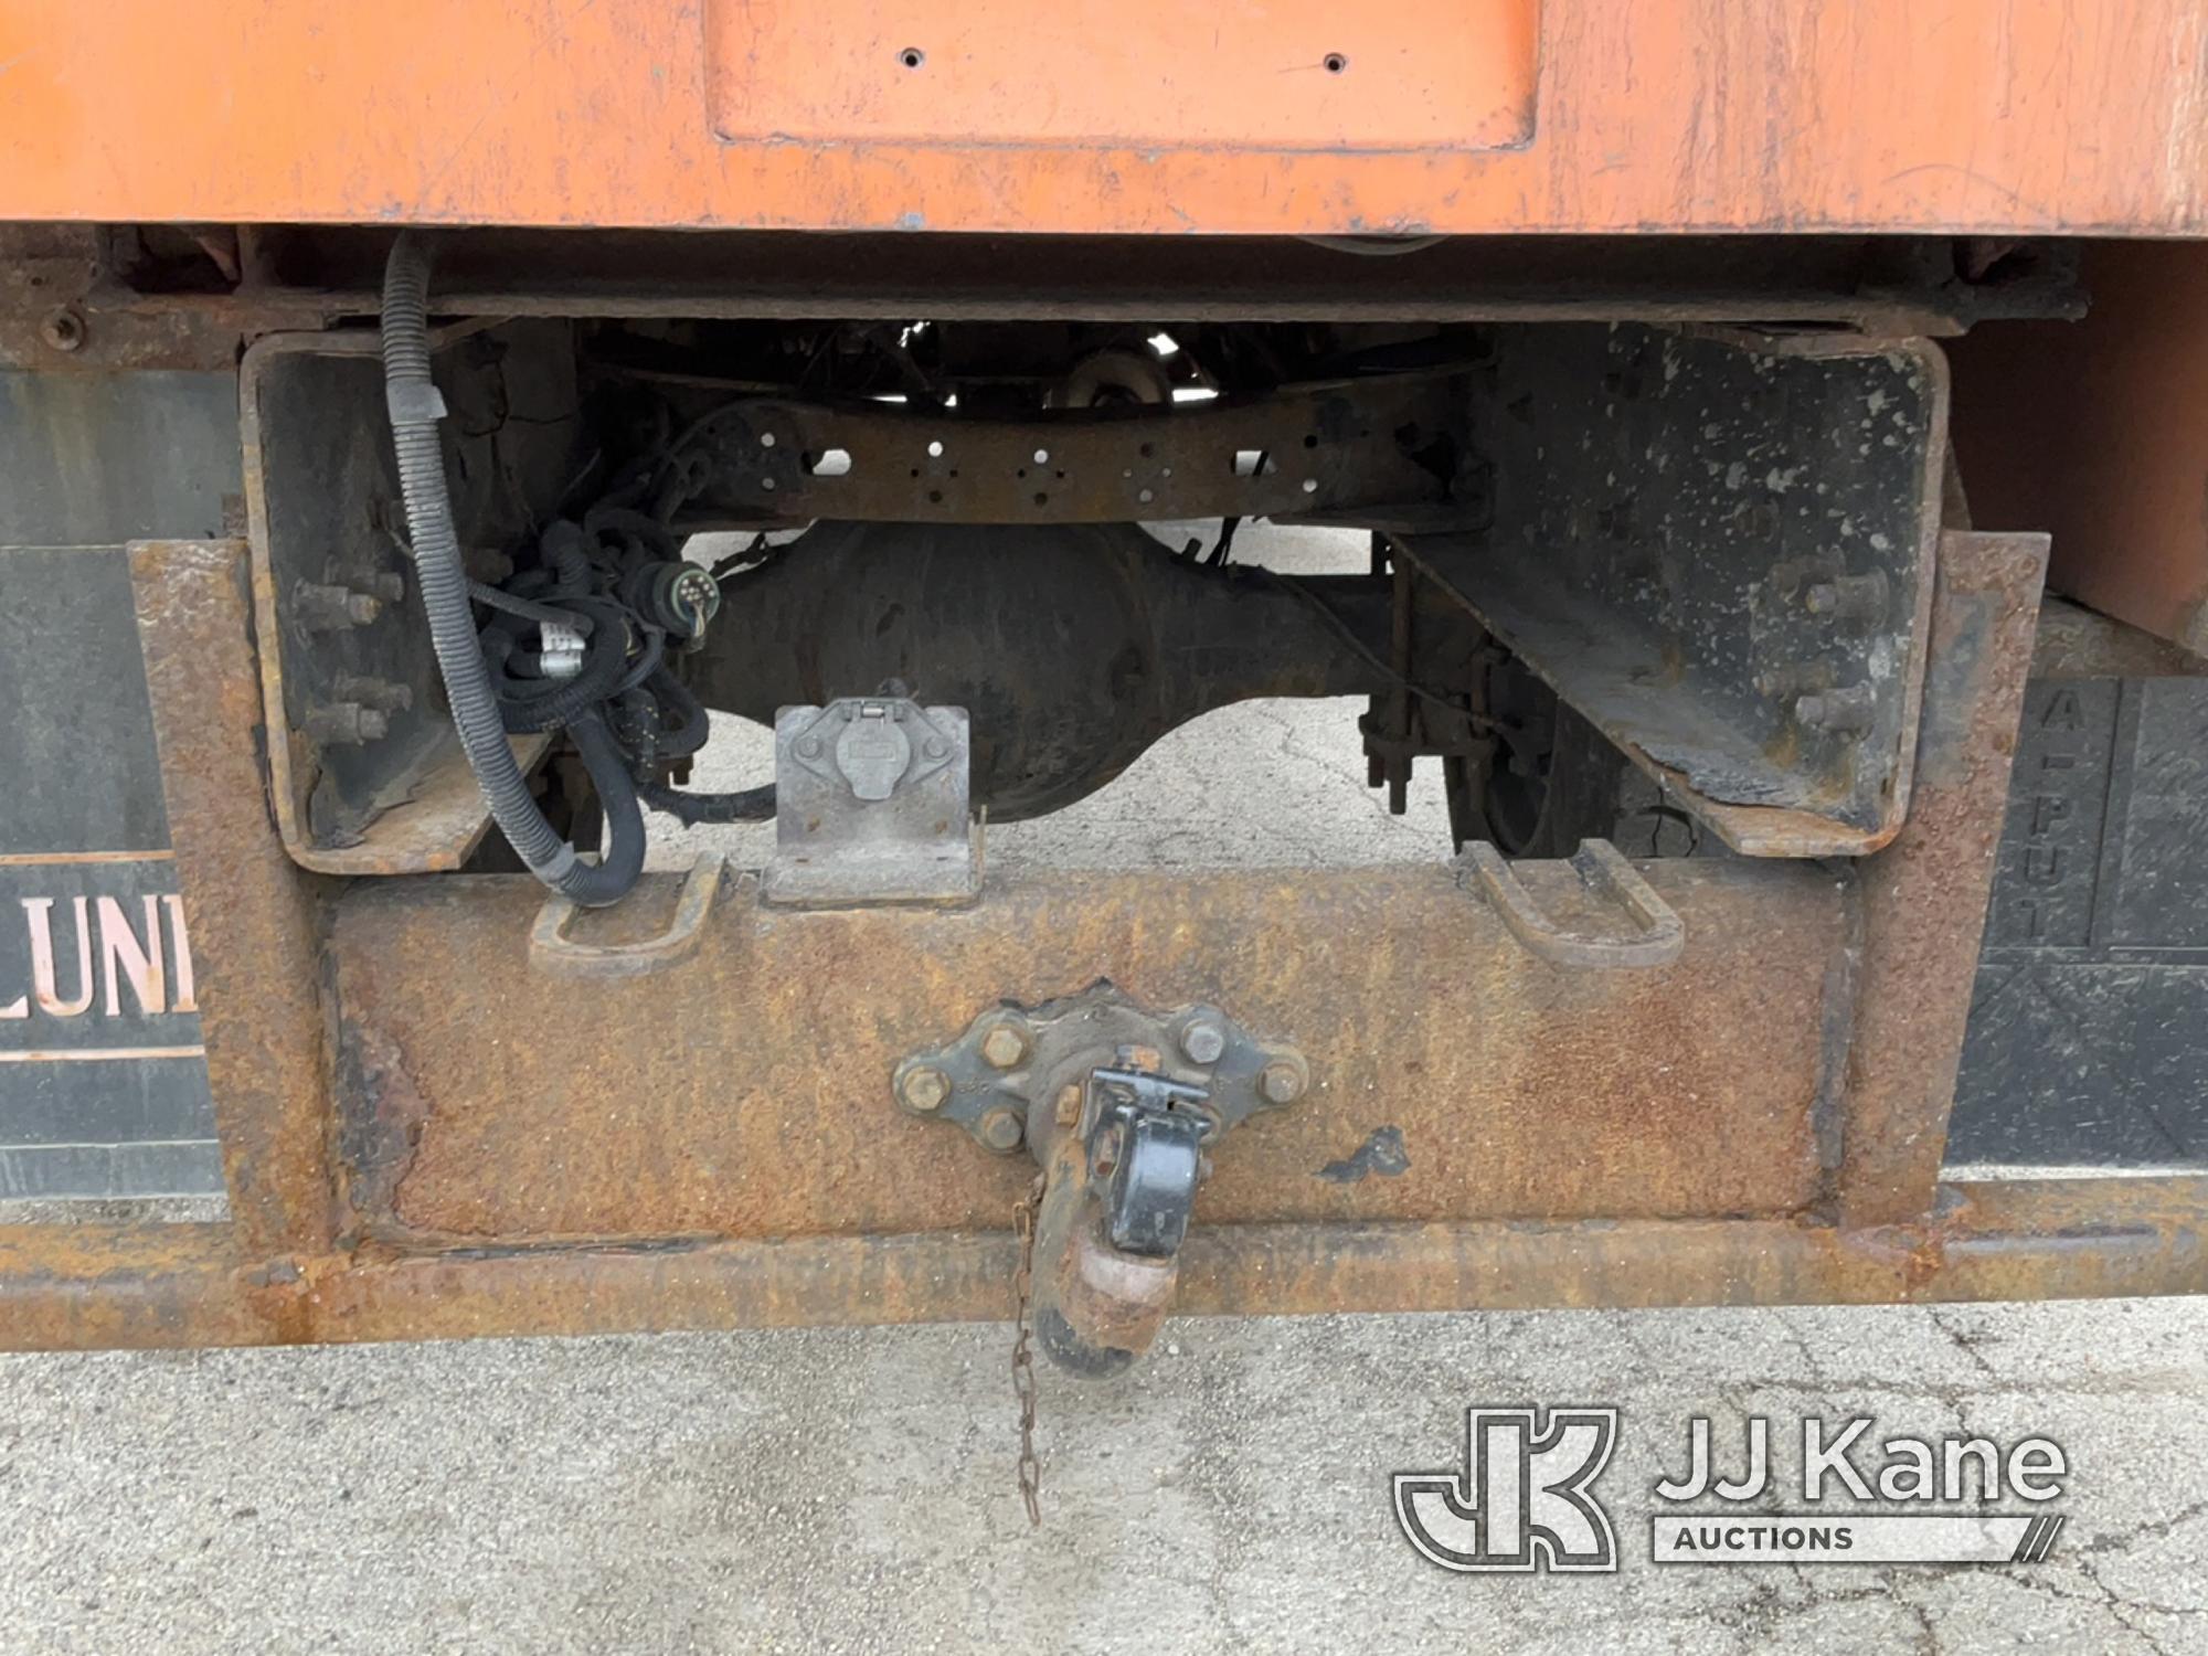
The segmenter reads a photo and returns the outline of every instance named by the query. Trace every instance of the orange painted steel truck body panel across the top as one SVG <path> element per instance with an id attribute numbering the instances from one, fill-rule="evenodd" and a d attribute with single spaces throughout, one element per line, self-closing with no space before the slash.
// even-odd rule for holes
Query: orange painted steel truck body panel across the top
<path id="1" fill-rule="evenodd" d="M 0 0 L 0 219 L 2208 230 L 2208 0 Z"/>

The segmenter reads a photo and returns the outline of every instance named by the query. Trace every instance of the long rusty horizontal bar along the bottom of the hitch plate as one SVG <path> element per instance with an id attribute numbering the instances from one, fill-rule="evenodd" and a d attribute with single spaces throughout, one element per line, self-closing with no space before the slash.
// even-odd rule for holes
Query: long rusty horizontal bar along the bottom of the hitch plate
<path id="1" fill-rule="evenodd" d="M 1941 1219 L 1197 1225 L 1192 1316 L 2208 1294 L 2208 1177 L 1947 1186 Z M 177 1347 L 996 1320 L 1011 1232 L 364 1245 L 241 1267 L 223 1225 L 0 1228 L 0 1347 Z"/>

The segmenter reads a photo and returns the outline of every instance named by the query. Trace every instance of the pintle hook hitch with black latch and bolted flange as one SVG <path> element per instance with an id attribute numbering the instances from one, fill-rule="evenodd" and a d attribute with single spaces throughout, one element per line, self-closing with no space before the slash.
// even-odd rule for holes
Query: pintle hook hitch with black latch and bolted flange
<path id="1" fill-rule="evenodd" d="M 1217 1007 L 1150 1011 L 1113 985 L 1038 1007 L 1005 1002 L 958 1040 L 896 1066 L 896 1102 L 983 1148 L 1025 1144 L 1044 1172 L 1033 1325 L 1051 1360 L 1111 1376 L 1150 1349 L 1172 1307 L 1197 1186 L 1225 1130 L 1301 1100 L 1303 1053 Z"/>

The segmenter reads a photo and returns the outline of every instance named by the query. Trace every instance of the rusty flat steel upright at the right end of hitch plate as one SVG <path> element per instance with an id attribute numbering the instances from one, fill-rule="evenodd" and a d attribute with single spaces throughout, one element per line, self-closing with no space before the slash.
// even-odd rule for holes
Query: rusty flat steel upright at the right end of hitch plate
<path id="1" fill-rule="evenodd" d="M 2045 534 L 1941 537 L 1910 817 L 1861 870 L 1848 1225 L 1917 1219 L 1939 1181 L 2045 570 Z"/>

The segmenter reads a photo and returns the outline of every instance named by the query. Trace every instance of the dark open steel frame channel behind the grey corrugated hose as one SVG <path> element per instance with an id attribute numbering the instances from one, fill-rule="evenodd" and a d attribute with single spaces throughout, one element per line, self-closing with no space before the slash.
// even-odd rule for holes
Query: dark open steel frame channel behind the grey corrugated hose
<path id="1" fill-rule="evenodd" d="M 495 349 L 464 351 L 477 336 Z M 437 378 L 464 415 L 508 395 L 567 408 L 565 338 L 548 322 L 453 322 L 433 340 Z M 267 333 L 238 364 L 269 802 L 289 854 L 325 874 L 455 870 L 490 830 L 393 530 L 404 508 L 391 444 L 358 442 L 384 426 L 375 333 Z M 574 477 L 574 417 L 459 417 L 446 439 L 464 473 L 506 479 L 461 495 L 470 548 L 512 545 Z M 333 453 L 349 464 L 331 466 Z M 470 556 L 477 574 L 497 572 L 486 552 Z M 508 742 L 523 771 L 552 749 L 543 733 Z"/>

